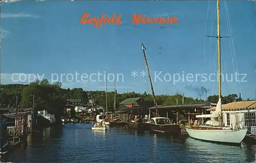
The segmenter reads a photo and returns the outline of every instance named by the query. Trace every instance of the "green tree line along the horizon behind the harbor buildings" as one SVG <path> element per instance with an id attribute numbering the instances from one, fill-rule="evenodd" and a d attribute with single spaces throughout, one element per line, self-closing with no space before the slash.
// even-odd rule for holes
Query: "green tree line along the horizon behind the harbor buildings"
<path id="1" fill-rule="evenodd" d="M 50 83 L 47 79 L 40 82 L 36 81 L 30 84 L 7 84 L 0 85 L 1 89 L 1 108 L 15 108 L 16 97 L 18 97 L 19 108 L 34 108 L 35 110 L 46 109 L 49 113 L 55 115 L 62 115 L 66 107 L 67 99 L 81 99 L 83 104 L 88 104 L 89 100 L 93 100 L 94 105 L 89 107 L 103 107 L 106 108 L 106 92 L 101 90 L 88 91 L 82 88 L 62 88 L 60 82 Z M 144 101 L 153 101 L 151 94 L 144 92 L 108 92 L 108 110 L 114 108 L 114 97 L 116 94 L 116 108 L 119 108 L 119 103 L 127 98 L 141 97 Z M 33 100 L 34 99 L 34 100 Z M 181 94 L 176 95 L 158 95 L 156 100 L 160 105 L 174 105 L 183 102 Z M 218 95 L 212 95 L 207 98 L 207 102 L 217 103 Z M 231 94 L 222 97 L 222 103 L 230 103 L 234 101 L 242 101 L 236 94 Z M 194 99 L 192 97 L 184 97 L 184 103 L 205 102 L 201 99 Z"/>

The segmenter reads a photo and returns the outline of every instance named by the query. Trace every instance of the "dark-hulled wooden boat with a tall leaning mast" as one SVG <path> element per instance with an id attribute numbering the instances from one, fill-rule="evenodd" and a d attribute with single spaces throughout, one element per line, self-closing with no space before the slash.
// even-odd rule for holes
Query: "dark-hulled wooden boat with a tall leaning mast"
<path id="1" fill-rule="evenodd" d="M 156 98 L 155 98 L 155 92 L 154 92 L 154 88 L 153 88 L 153 84 L 152 84 L 152 80 L 151 80 L 151 76 L 150 76 L 150 69 L 148 68 L 148 64 L 147 64 L 147 60 L 146 60 L 145 46 L 143 43 L 141 43 L 141 46 L 142 46 L 142 52 L 144 55 L 144 60 L 145 60 L 146 67 L 147 67 L 147 75 L 148 75 L 148 78 L 150 79 L 152 96 L 153 96 L 154 104 L 155 104 L 155 108 L 156 108 L 156 117 L 152 118 L 150 123 L 145 124 L 145 125 L 149 125 L 150 129 L 155 132 L 180 133 L 179 125 L 172 124 L 172 123 L 170 123 L 170 120 L 168 118 L 159 116 L 157 102 L 156 102 Z"/>

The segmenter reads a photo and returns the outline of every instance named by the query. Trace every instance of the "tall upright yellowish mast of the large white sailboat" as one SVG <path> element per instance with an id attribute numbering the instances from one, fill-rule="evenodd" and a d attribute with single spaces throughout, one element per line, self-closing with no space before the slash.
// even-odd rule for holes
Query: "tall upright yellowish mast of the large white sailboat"
<path id="1" fill-rule="evenodd" d="M 217 37 L 218 37 L 218 69 L 219 69 L 219 101 L 221 100 L 221 28 L 220 28 L 220 0 L 217 0 Z M 220 106 L 221 107 L 221 106 Z M 219 116 L 222 122 L 222 113 Z"/>

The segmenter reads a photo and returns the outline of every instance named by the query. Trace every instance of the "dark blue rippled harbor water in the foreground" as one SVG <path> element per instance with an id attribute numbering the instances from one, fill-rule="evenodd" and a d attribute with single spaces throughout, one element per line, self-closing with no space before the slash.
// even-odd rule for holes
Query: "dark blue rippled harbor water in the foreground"
<path id="1" fill-rule="evenodd" d="M 90 124 L 53 126 L 29 135 L 2 157 L 13 162 L 255 162 L 256 145 L 207 143 L 122 128 L 92 131 Z"/>

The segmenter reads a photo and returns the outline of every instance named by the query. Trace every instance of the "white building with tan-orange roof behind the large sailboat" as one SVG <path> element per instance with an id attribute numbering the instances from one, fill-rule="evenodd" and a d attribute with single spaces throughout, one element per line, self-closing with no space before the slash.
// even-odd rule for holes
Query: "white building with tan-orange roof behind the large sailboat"
<path id="1" fill-rule="evenodd" d="M 211 111 L 214 111 L 215 108 L 211 108 Z M 222 113 L 225 126 L 234 128 L 237 123 L 242 121 L 242 125 L 249 127 L 248 130 L 251 134 L 256 135 L 256 100 L 222 105 Z"/>

